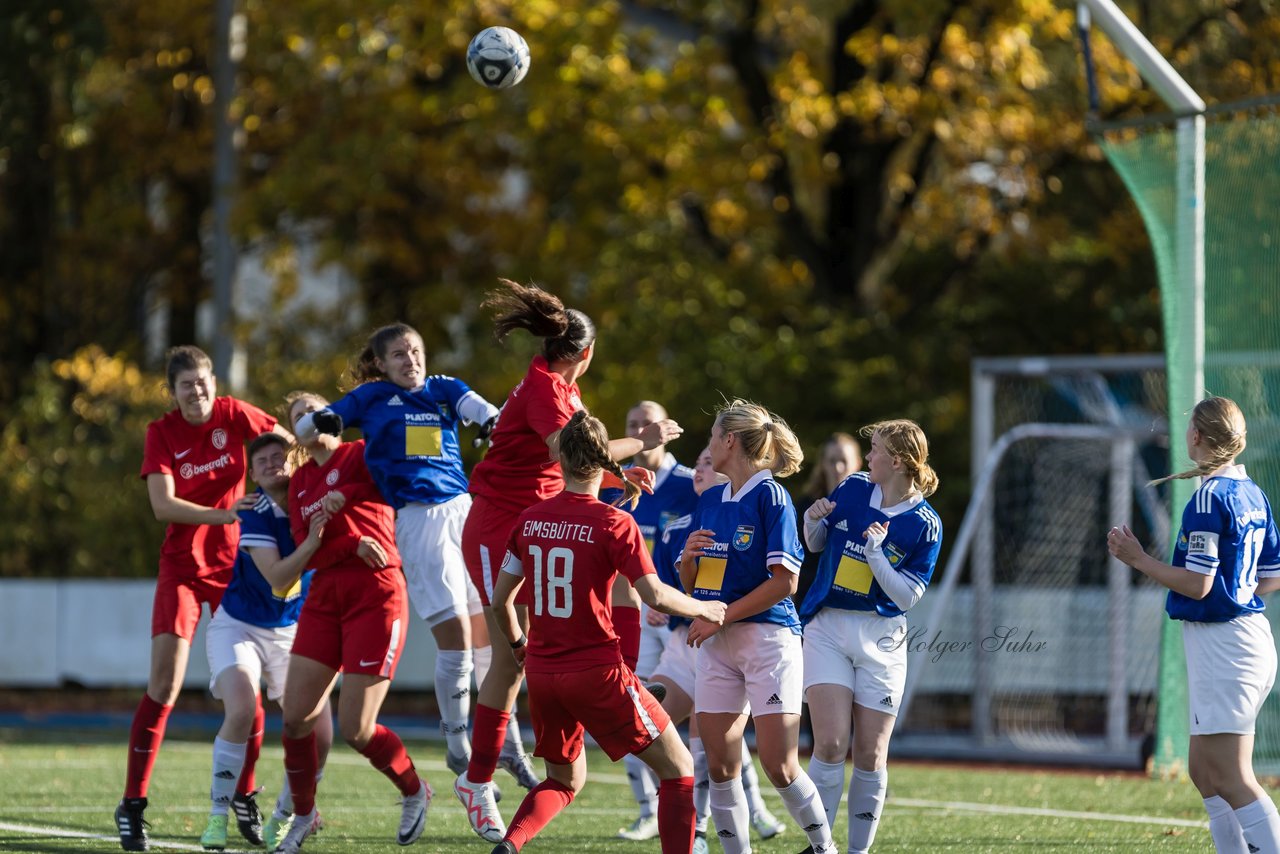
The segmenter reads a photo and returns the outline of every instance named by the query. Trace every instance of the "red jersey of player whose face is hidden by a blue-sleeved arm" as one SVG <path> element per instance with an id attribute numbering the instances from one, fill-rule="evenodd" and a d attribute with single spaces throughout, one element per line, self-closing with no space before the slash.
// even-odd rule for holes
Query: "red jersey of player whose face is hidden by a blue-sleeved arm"
<path id="1" fill-rule="evenodd" d="M 369 567 L 356 556 L 361 536 L 372 536 L 387 552 L 387 567 L 401 565 L 396 551 L 396 511 L 383 498 L 365 465 L 365 440 L 343 442 L 325 465 L 308 460 L 289 478 L 289 526 L 293 540 L 301 543 L 311 530 L 311 517 L 330 492 L 347 499 L 324 526 L 320 549 L 311 566 Z"/>

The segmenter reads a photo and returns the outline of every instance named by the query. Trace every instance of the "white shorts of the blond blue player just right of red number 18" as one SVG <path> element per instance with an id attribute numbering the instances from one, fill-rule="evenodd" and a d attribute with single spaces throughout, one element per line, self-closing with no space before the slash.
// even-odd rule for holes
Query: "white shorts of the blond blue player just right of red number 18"
<path id="1" fill-rule="evenodd" d="M 800 714 L 804 659 L 800 635 L 772 622 L 733 622 L 698 652 L 694 708 L 741 714 Z"/>

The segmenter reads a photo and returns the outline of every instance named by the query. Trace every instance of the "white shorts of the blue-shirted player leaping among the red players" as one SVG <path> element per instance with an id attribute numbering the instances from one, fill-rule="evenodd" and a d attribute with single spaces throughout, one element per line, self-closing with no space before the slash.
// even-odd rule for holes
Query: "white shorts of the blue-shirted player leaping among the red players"
<path id="1" fill-rule="evenodd" d="M 481 612 L 462 560 L 462 526 L 470 510 L 471 495 L 457 495 L 439 504 L 404 504 L 396 512 L 404 588 L 413 611 L 429 626 Z"/>

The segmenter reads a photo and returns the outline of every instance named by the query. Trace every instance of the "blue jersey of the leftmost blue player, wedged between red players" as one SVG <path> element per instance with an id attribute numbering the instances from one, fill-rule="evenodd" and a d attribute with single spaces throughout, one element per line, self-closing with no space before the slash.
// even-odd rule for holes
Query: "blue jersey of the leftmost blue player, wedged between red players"
<path id="1" fill-rule="evenodd" d="M 315 570 L 307 570 L 287 589 L 273 589 L 262 577 L 257 563 L 250 557 L 251 548 L 274 548 L 280 557 L 293 554 L 293 534 L 289 515 L 270 495 L 257 490 L 257 503 L 252 510 L 242 510 L 239 548 L 232 581 L 223 593 L 221 607 L 241 622 L 262 629 L 292 626 L 298 621 L 302 600 L 311 586 Z"/>

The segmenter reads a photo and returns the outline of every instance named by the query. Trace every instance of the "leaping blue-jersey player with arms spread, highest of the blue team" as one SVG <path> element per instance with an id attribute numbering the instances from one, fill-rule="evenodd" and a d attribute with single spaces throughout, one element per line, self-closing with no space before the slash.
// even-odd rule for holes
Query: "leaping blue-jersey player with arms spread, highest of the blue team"
<path id="1" fill-rule="evenodd" d="M 381 326 L 352 367 L 358 385 L 311 423 L 330 434 L 348 426 L 365 434 L 369 472 L 396 508 L 396 544 L 410 602 L 435 639 L 445 763 L 462 773 L 471 759 L 471 675 L 479 671 L 477 681 L 484 681 L 490 649 L 480 597 L 462 560 L 471 495 L 458 426 L 479 424 L 486 437 L 498 408 L 460 379 L 429 376 L 424 359 L 422 337 L 412 326 Z M 499 763 L 526 789 L 538 785 L 518 727 L 508 729 Z"/>

